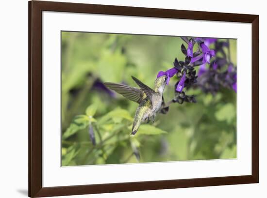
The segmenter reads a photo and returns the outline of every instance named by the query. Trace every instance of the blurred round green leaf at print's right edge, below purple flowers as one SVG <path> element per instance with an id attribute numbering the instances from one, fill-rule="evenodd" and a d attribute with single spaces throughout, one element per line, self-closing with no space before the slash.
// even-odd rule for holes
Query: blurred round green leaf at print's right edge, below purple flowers
<path id="1" fill-rule="evenodd" d="M 227 121 L 230 123 L 236 115 L 236 109 L 233 104 L 228 103 L 218 109 L 215 113 L 215 117 L 218 121 Z"/>

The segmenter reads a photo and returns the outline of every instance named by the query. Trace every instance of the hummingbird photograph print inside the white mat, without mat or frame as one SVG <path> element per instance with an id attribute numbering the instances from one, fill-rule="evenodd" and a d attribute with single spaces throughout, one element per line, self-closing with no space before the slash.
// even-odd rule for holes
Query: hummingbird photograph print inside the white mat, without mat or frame
<path id="1" fill-rule="evenodd" d="M 62 166 L 236 158 L 236 42 L 61 31 Z"/>

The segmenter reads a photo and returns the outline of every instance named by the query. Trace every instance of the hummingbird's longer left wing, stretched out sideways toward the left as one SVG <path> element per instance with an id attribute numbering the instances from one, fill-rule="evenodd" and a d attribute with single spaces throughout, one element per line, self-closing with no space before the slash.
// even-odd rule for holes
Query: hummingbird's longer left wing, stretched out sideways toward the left
<path id="1" fill-rule="evenodd" d="M 104 85 L 138 104 L 140 104 L 141 101 L 146 98 L 145 93 L 141 89 L 135 87 L 112 82 L 105 82 Z"/>

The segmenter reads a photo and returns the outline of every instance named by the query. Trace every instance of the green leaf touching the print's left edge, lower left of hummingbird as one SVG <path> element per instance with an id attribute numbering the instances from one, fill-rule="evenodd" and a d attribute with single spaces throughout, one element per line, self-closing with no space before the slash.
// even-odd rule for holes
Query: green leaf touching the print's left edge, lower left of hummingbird
<path id="1" fill-rule="evenodd" d="M 84 129 L 89 124 L 89 119 L 86 115 L 76 116 L 65 133 L 62 136 L 62 139 L 67 139 L 68 137 L 74 135 L 78 131 Z"/>

